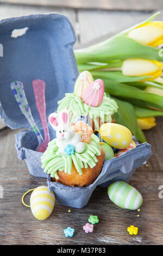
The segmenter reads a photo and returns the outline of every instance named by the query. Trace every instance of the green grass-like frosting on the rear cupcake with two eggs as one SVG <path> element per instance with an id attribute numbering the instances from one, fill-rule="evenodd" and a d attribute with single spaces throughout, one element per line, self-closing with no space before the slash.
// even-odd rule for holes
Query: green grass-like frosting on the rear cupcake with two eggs
<path id="1" fill-rule="evenodd" d="M 111 115 L 117 112 L 118 109 L 117 103 L 106 96 L 105 93 L 103 101 L 98 107 L 87 105 L 74 93 L 66 93 L 65 97 L 58 101 L 58 105 L 57 111 L 68 108 L 70 113 L 73 114 L 72 123 L 76 121 L 79 115 L 89 115 L 93 119 L 97 130 L 99 129 L 99 124 L 96 118 L 100 117 L 103 123 L 111 123 Z"/>

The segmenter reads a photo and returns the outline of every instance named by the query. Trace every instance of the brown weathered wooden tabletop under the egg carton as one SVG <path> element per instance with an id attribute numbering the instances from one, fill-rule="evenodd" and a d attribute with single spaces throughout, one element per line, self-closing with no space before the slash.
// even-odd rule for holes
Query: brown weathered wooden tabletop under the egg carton
<path id="1" fill-rule="evenodd" d="M 14 135 L 18 130 L 3 129 L 0 132 L 0 244 L 3 245 L 162 245 L 163 198 L 159 198 L 159 186 L 163 185 L 163 118 L 157 118 L 157 126 L 146 131 L 152 144 L 153 155 L 145 165 L 136 170 L 130 180 L 143 196 L 141 211 L 118 208 L 107 195 L 106 189 L 97 187 L 89 204 L 83 209 L 71 209 L 55 204 L 52 215 L 38 221 L 26 208 L 21 197 L 30 188 L 46 185 L 46 179 L 30 175 L 26 163 L 17 159 Z M 163 193 L 162 193 L 163 194 Z M 29 203 L 29 196 L 26 197 Z M 71 212 L 68 212 L 71 209 Z M 137 215 L 139 214 L 139 217 Z M 85 234 L 83 225 L 90 215 L 98 215 L 99 223 L 92 234 Z M 138 235 L 129 235 L 131 224 L 139 228 Z M 75 229 L 73 237 L 66 238 L 64 229 Z"/>

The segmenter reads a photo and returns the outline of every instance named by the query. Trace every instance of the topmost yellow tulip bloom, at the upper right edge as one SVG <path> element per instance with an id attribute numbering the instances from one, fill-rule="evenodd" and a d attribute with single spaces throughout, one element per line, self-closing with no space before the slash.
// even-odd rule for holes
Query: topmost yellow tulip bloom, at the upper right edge
<path id="1" fill-rule="evenodd" d="M 163 22 L 151 21 L 132 29 L 128 33 L 129 38 L 143 45 L 157 47 L 163 42 Z"/>

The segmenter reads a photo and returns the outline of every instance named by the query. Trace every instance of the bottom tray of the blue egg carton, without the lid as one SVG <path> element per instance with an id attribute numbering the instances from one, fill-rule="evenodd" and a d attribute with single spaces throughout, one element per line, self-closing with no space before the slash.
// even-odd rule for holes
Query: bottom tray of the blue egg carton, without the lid
<path id="1" fill-rule="evenodd" d="M 53 137 L 54 131 L 50 127 L 49 130 Z M 22 147 L 22 144 L 25 147 Z M 55 193 L 58 203 L 72 208 L 83 208 L 87 205 L 92 192 L 97 186 L 108 187 L 117 180 L 128 182 L 136 168 L 140 167 L 152 154 L 150 144 L 138 144 L 136 148 L 130 149 L 123 155 L 104 161 L 101 173 L 90 186 L 69 187 L 59 182 L 52 182 L 51 176 L 43 172 L 40 160 L 43 153 L 27 148 L 35 148 L 36 146 L 37 142 L 33 131 L 22 131 L 16 135 L 18 157 L 19 159 L 25 159 L 30 174 L 47 178 L 49 191 Z"/>

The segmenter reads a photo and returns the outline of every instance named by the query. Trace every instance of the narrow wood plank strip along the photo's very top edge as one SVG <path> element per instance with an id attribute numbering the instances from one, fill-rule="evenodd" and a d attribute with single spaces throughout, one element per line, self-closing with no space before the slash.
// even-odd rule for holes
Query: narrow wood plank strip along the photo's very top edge
<path id="1" fill-rule="evenodd" d="M 68 7 L 76 9 L 105 9 L 105 10 L 157 10 L 163 8 L 162 0 L 0 0 L 2 3 L 30 4 L 51 7 Z"/>

